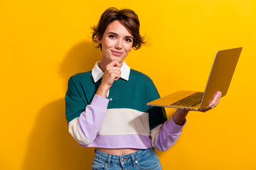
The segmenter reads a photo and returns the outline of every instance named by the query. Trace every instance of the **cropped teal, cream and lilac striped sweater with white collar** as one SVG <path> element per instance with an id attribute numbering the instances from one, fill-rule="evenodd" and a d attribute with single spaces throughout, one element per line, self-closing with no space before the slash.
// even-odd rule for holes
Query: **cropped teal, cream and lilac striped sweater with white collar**
<path id="1" fill-rule="evenodd" d="M 186 120 L 176 125 L 173 118 L 166 119 L 164 108 L 146 105 L 159 98 L 153 81 L 124 62 L 121 78 L 104 98 L 95 94 L 103 75 L 97 63 L 92 71 L 68 80 L 65 115 L 69 132 L 79 145 L 161 151 L 174 145 Z"/>

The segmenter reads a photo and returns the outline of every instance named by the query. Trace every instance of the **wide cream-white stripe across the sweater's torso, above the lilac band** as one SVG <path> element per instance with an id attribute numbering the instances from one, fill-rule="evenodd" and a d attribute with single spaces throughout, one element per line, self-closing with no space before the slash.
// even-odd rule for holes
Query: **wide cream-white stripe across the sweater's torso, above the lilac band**
<path id="1" fill-rule="evenodd" d="M 149 135 L 149 113 L 130 108 L 107 109 L 105 120 L 97 134 Z"/>

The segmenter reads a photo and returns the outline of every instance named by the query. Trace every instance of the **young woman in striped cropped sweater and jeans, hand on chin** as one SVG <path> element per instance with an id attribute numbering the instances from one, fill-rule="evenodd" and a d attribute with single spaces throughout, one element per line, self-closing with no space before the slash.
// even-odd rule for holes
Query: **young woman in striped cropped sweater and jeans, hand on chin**
<path id="1" fill-rule="evenodd" d="M 80 145 L 95 147 L 92 169 L 161 169 L 154 149 L 165 151 L 174 145 L 188 111 L 178 109 L 167 120 L 164 108 L 146 106 L 159 98 L 156 87 L 124 62 L 131 50 L 144 44 L 134 11 L 107 8 L 92 29 L 102 59 L 92 71 L 68 81 L 69 132 Z M 203 111 L 214 108 L 220 96 L 216 94 Z"/>

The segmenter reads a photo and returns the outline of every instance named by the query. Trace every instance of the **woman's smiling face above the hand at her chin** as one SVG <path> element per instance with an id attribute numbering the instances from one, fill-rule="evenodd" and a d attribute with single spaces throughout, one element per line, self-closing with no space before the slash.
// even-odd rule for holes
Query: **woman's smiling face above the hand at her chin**
<path id="1" fill-rule="evenodd" d="M 102 60 L 105 64 L 117 60 L 124 62 L 130 50 L 132 50 L 133 36 L 119 21 L 113 21 L 107 26 L 102 38 L 97 36 L 97 42 L 102 44 Z"/>

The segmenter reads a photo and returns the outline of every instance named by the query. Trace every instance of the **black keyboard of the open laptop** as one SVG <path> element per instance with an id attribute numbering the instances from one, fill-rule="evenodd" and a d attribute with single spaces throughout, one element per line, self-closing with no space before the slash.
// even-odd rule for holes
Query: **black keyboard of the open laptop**
<path id="1" fill-rule="evenodd" d="M 170 104 L 170 106 L 194 107 L 199 103 L 201 103 L 202 98 L 203 98 L 203 92 L 196 92 L 195 94 L 191 94 L 186 98 L 182 98 L 181 100 Z"/>

